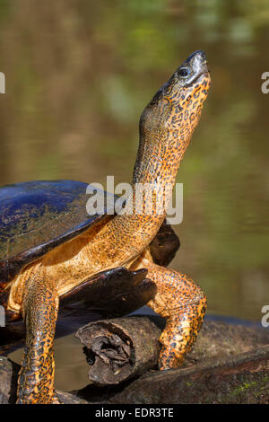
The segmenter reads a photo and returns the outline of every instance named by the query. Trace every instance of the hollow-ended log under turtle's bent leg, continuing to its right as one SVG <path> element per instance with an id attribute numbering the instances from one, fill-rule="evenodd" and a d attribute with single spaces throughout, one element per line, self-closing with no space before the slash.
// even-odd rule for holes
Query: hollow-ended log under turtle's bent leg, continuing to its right
<path id="1" fill-rule="evenodd" d="M 96 385 L 116 385 L 157 369 L 158 339 L 165 321 L 155 316 L 130 316 L 91 322 L 77 331 L 90 365 L 89 379 Z M 187 356 L 185 366 L 211 358 L 236 355 L 269 343 L 264 330 L 206 322 Z"/>

